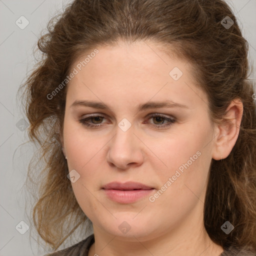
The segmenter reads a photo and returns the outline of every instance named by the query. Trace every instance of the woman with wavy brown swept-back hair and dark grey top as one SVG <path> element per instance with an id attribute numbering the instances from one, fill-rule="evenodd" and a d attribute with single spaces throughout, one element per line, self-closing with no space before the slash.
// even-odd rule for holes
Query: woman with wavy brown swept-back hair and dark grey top
<path id="1" fill-rule="evenodd" d="M 74 0 L 48 29 L 24 84 L 33 220 L 55 250 L 93 226 L 50 255 L 256 255 L 255 94 L 228 5 Z"/>

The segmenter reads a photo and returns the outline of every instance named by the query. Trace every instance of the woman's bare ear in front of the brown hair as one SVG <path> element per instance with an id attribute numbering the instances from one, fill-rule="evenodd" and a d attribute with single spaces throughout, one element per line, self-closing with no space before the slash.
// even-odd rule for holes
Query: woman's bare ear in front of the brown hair
<path id="1" fill-rule="evenodd" d="M 216 124 L 216 136 L 212 149 L 212 158 L 226 158 L 237 140 L 242 119 L 243 105 L 239 98 L 233 99 L 226 109 L 220 123 Z"/>

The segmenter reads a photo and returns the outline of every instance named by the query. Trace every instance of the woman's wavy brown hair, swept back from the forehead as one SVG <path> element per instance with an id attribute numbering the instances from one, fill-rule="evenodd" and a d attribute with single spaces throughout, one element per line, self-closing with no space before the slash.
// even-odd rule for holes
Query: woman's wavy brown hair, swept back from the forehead
<path id="1" fill-rule="evenodd" d="M 226 16 L 234 22 L 229 28 L 221 22 Z M 256 249 L 256 113 L 248 79 L 248 43 L 230 7 L 223 0 L 74 0 L 47 28 L 38 40 L 42 59 L 22 87 L 29 137 L 39 143 L 45 160 L 33 208 L 39 235 L 56 249 L 86 219 L 66 177 L 59 140 L 66 86 L 51 99 L 47 95 L 89 49 L 119 39 L 151 40 L 171 46 L 192 63 L 194 77 L 207 93 L 212 120 L 221 120 L 231 100 L 241 99 L 238 139 L 228 157 L 211 162 L 204 226 L 222 247 Z M 229 234 L 220 228 L 226 220 L 234 226 Z"/>

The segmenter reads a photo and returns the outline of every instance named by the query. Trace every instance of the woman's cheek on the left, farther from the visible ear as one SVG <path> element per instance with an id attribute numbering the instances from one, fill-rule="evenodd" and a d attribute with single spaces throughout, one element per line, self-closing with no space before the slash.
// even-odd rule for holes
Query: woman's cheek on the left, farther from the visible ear
<path id="1" fill-rule="evenodd" d="M 68 130 L 66 127 L 67 132 Z M 98 181 L 102 178 L 102 168 L 99 167 L 104 159 L 103 150 L 100 150 L 105 144 L 102 140 L 87 136 L 84 132 L 73 132 L 72 136 L 64 137 L 68 169 L 74 169 L 79 175 L 77 181 L 71 182 L 72 189 L 79 206 L 90 219 L 93 219 L 94 212 L 102 211 L 95 200 L 95 192 L 99 189 Z"/>

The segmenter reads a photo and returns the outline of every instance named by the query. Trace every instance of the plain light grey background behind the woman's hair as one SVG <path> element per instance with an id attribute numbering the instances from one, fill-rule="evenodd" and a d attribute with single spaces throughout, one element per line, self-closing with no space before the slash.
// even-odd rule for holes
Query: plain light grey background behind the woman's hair
<path id="1" fill-rule="evenodd" d="M 61 11 L 69 1 L 0 0 L 0 256 L 44 255 L 47 252 L 38 245 L 36 232 L 25 214 L 28 197 L 23 184 L 33 148 L 29 144 L 20 146 L 27 140 L 26 118 L 22 116 L 16 102 L 16 92 L 26 72 L 35 63 L 32 50 L 37 36 L 45 29 L 49 18 Z M 233 8 L 243 35 L 249 42 L 249 60 L 255 69 L 256 0 L 227 2 Z M 20 18 L 22 15 L 29 22 L 24 29 L 19 27 L 27 22 Z M 250 78 L 255 77 L 253 70 Z M 20 221 L 29 225 L 24 234 L 17 231 L 25 230 Z"/>

